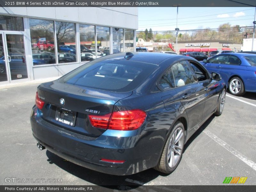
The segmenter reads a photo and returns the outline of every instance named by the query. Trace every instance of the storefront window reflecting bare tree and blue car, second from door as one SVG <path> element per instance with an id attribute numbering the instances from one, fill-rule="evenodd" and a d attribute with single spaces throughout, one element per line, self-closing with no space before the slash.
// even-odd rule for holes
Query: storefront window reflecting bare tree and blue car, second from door
<path id="1" fill-rule="evenodd" d="M 55 23 L 59 63 L 76 62 L 76 24 L 59 21 Z"/>

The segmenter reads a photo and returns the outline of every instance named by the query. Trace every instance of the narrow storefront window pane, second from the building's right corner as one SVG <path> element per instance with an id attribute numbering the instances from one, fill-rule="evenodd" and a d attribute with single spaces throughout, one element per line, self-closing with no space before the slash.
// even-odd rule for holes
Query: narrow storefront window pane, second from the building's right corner
<path id="1" fill-rule="evenodd" d="M 113 28 L 113 53 L 124 52 L 124 29 Z"/>

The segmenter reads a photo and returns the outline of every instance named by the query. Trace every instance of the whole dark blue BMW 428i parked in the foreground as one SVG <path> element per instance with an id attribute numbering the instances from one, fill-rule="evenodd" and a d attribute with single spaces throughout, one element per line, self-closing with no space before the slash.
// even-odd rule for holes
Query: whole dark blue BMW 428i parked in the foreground
<path id="1" fill-rule="evenodd" d="M 171 173 L 189 137 L 221 115 L 225 95 L 220 75 L 191 57 L 117 53 L 39 85 L 30 121 L 38 148 L 75 164 Z"/>

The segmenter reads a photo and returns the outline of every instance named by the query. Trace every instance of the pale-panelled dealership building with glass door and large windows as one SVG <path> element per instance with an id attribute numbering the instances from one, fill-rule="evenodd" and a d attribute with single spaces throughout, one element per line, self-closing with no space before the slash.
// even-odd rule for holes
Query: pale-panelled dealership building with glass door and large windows
<path id="1" fill-rule="evenodd" d="M 137 7 L 1 7 L 0 85 L 63 76 L 91 58 L 133 52 L 136 29 Z"/>

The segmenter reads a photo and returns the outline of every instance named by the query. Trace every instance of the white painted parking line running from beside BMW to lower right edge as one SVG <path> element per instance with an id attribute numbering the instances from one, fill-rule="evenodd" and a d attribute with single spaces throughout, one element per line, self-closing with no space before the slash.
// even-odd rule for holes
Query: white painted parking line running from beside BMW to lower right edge
<path id="1" fill-rule="evenodd" d="M 228 145 L 225 141 L 218 138 L 216 135 L 214 135 L 212 132 L 208 130 L 203 131 L 206 135 L 208 135 L 210 138 L 212 138 L 216 143 L 221 145 L 223 148 L 227 149 L 230 153 L 232 153 L 234 156 L 238 157 L 240 160 L 242 160 L 244 163 L 249 165 L 252 169 L 256 171 L 256 163 L 248 159 L 246 156 L 242 155 L 240 152 L 238 152 L 236 149 Z"/>

